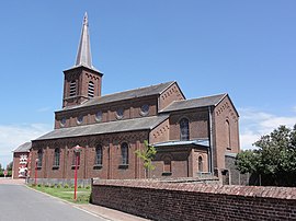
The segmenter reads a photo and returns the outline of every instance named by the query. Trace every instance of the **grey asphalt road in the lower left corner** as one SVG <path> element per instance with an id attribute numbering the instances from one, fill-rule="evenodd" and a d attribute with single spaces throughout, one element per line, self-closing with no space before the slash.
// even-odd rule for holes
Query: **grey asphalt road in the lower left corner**
<path id="1" fill-rule="evenodd" d="M 103 221 L 22 185 L 0 185 L 0 221 Z"/>

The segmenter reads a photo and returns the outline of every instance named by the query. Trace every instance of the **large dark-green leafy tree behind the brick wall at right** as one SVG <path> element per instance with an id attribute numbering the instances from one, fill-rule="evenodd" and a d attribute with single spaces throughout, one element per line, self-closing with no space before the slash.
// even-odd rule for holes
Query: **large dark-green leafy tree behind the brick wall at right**
<path id="1" fill-rule="evenodd" d="M 236 165 L 241 173 L 260 174 L 265 185 L 296 186 L 296 125 L 280 126 L 254 142 L 258 150 L 242 151 Z"/>

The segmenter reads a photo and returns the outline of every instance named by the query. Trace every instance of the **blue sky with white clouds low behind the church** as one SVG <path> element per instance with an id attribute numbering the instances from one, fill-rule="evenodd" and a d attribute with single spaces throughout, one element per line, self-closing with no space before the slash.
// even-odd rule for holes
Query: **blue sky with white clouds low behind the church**
<path id="1" fill-rule="evenodd" d="M 296 1 L 2 1 L 0 163 L 54 128 L 84 12 L 102 94 L 175 80 L 186 98 L 228 93 L 241 149 L 296 124 Z"/>

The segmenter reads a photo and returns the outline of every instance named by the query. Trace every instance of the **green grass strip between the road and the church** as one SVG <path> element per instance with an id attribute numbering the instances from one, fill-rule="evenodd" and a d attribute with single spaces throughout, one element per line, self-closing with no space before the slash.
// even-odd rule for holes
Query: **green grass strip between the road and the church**
<path id="1" fill-rule="evenodd" d="M 57 188 L 34 185 L 31 185 L 30 187 L 73 203 L 89 203 L 90 201 L 91 188 L 77 188 L 77 200 L 73 200 L 75 188 Z"/>

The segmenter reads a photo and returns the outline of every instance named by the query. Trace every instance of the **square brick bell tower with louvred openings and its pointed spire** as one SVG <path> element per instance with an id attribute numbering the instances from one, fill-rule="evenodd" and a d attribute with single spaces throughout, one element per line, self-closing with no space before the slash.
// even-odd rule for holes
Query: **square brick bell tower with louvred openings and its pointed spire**
<path id="1" fill-rule="evenodd" d="M 103 73 L 92 66 L 89 21 L 86 12 L 76 63 L 64 71 L 62 108 L 101 96 Z"/>

